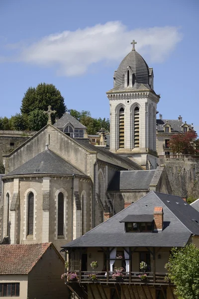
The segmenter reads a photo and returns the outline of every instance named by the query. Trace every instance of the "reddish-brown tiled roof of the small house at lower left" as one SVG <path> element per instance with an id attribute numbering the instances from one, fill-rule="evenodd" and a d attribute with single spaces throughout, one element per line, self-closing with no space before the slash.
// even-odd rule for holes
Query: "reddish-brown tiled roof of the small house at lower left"
<path id="1" fill-rule="evenodd" d="M 28 274 L 51 244 L 0 245 L 0 275 Z"/>

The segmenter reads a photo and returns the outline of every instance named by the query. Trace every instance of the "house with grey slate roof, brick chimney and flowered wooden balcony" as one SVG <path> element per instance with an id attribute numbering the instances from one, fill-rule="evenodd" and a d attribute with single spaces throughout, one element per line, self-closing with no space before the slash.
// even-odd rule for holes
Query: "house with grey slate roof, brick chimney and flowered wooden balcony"
<path id="1" fill-rule="evenodd" d="M 78 280 L 66 280 L 78 299 L 175 299 L 165 280 L 172 247 L 199 246 L 199 212 L 182 198 L 151 191 L 113 217 L 63 246 Z M 98 262 L 97 269 L 91 263 Z M 140 263 L 147 268 L 140 270 Z M 114 279 L 114 268 L 122 277 Z M 146 276 L 142 280 L 139 275 Z M 89 274 L 96 274 L 92 281 Z M 122 283 L 121 283 L 122 282 Z M 84 291 L 83 291 L 84 290 Z M 88 294 L 88 295 L 87 295 Z"/>

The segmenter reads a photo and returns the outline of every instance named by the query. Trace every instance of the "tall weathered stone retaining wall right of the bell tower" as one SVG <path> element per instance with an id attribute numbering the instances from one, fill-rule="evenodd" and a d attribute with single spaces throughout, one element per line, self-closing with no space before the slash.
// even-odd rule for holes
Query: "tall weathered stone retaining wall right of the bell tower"
<path id="1" fill-rule="evenodd" d="M 199 158 L 180 155 L 177 158 L 159 158 L 164 164 L 172 194 L 199 198 Z"/>

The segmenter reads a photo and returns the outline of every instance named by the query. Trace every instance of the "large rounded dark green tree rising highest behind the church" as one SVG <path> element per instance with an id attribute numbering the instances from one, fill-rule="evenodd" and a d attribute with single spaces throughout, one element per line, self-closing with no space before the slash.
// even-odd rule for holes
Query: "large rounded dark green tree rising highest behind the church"
<path id="1" fill-rule="evenodd" d="M 27 89 L 20 110 L 23 115 L 29 115 L 36 109 L 47 111 L 49 105 L 51 105 L 52 110 L 57 111 L 56 116 L 59 118 L 66 111 L 64 98 L 60 91 L 53 84 L 40 83 L 36 88 L 29 87 Z M 52 120 L 55 121 L 55 115 L 52 115 Z"/>

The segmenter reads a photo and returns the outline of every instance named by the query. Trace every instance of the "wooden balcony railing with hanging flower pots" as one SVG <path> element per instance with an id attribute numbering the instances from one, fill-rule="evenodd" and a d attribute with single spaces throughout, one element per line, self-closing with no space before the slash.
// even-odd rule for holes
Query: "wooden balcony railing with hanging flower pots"
<path id="1" fill-rule="evenodd" d="M 114 280 L 112 278 L 112 272 L 109 272 L 108 275 L 106 272 L 97 272 L 97 271 L 83 271 L 83 272 L 78 272 L 78 271 L 71 271 L 75 272 L 78 276 L 78 279 L 76 281 L 67 281 L 67 283 L 124 283 L 124 284 L 143 284 L 143 285 L 168 285 L 168 281 L 165 280 L 166 273 L 152 273 L 152 272 L 147 272 L 146 279 L 141 280 L 139 278 L 139 275 L 143 275 L 142 272 L 122 272 L 124 275 L 123 279 L 118 279 Z M 90 280 L 88 278 L 89 274 L 96 274 L 96 280 Z"/>

